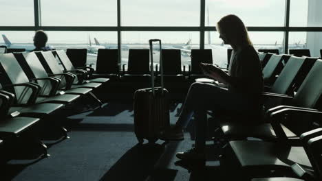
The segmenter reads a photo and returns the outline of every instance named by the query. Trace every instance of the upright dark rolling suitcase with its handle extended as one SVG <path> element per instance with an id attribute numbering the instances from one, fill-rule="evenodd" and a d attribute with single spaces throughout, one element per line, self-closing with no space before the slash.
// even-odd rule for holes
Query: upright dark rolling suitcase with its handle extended
<path id="1" fill-rule="evenodd" d="M 163 86 L 163 66 L 162 53 L 160 51 L 160 73 L 161 87 L 154 85 L 153 71 L 153 42 L 160 44 L 161 40 L 149 40 L 151 59 L 151 88 L 142 88 L 134 93 L 134 132 L 139 143 L 143 143 L 144 138 L 149 143 L 158 140 L 158 135 L 162 130 L 169 128 L 169 92 Z"/>

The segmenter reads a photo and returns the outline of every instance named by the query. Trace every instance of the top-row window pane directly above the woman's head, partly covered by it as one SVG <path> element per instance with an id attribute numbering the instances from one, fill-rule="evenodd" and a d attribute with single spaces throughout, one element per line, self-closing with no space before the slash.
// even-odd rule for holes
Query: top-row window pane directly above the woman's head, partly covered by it
<path id="1" fill-rule="evenodd" d="M 236 14 L 246 26 L 283 26 L 284 0 L 206 0 L 206 26 L 215 26 L 227 14 Z"/>

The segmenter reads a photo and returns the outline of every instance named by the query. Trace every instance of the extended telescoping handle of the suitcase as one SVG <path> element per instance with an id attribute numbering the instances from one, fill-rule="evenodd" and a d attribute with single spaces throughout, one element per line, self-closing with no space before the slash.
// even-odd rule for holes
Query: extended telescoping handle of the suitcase
<path id="1" fill-rule="evenodd" d="M 151 59 L 151 79 L 152 79 L 152 93 L 155 95 L 155 87 L 154 87 L 154 70 L 153 70 L 153 42 L 159 42 L 160 45 L 160 73 L 161 73 L 161 93 L 163 95 L 163 62 L 162 62 L 162 48 L 161 48 L 161 40 L 160 39 L 151 39 L 149 40 L 149 45 L 150 45 L 150 59 Z"/>

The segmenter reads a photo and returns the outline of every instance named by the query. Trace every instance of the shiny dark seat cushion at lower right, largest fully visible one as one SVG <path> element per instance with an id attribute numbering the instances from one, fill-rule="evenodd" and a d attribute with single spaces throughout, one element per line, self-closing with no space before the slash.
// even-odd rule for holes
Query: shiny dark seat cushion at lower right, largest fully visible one
<path id="1" fill-rule="evenodd" d="M 230 141 L 230 147 L 241 167 L 291 169 L 294 163 L 312 170 L 303 147 L 289 147 L 265 141 Z"/>

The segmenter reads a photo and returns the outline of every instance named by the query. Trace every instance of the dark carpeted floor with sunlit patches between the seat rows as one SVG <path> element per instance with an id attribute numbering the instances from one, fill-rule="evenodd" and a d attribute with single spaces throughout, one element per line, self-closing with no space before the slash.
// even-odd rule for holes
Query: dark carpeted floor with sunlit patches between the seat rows
<path id="1" fill-rule="evenodd" d="M 181 106 L 171 104 L 172 123 Z M 111 101 L 66 121 L 71 125 L 70 138 L 52 144 L 49 158 L 10 160 L 1 169 L 0 180 L 228 180 L 231 175 L 220 166 L 211 144 L 206 167 L 178 166 L 182 162 L 175 153 L 193 144 L 192 125 L 182 142 L 137 145 L 131 101 Z"/>

